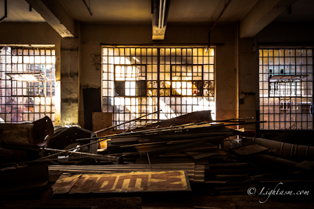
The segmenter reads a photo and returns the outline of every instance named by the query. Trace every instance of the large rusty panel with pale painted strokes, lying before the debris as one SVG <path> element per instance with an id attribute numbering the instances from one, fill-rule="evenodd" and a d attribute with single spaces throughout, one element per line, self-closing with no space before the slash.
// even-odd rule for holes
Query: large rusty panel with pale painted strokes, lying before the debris
<path id="1" fill-rule="evenodd" d="M 59 187 L 71 187 L 70 185 L 73 187 L 69 194 L 190 191 L 186 171 L 82 174 L 74 184 L 71 181 L 68 181 L 68 184 L 64 180 L 61 183 L 57 180 L 53 186 L 54 194 L 63 194 L 66 189 Z M 59 191 L 63 192 L 59 193 Z"/>

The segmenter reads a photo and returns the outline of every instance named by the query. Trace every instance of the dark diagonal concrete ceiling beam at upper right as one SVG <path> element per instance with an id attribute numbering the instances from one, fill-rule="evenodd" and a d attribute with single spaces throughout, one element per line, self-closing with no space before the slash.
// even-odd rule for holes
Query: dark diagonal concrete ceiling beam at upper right
<path id="1" fill-rule="evenodd" d="M 240 38 L 251 38 L 297 0 L 259 0 L 239 23 Z"/>

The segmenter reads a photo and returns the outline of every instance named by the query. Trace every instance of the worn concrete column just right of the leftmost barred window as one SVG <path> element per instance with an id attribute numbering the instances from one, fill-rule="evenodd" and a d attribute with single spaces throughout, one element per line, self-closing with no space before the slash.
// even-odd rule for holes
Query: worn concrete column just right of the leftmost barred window
<path id="1" fill-rule="evenodd" d="M 79 39 L 61 39 L 61 125 L 78 123 Z"/>

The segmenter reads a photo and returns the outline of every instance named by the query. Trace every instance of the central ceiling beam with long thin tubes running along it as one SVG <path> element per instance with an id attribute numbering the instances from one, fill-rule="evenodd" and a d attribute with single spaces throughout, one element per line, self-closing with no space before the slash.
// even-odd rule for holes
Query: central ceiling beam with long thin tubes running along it
<path id="1" fill-rule="evenodd" d="M 164 40 L 170 0 L 153 0 L 151 3 L 153 12 L 153 40 Z"/>

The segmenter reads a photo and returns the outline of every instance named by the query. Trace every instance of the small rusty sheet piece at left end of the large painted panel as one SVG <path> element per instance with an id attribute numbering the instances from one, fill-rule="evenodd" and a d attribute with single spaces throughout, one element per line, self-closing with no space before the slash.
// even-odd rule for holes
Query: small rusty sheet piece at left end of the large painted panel
<path id="1" fill-rule="evenodd" d="M 82 174 L 71 174 L 71 175 L 62 175 L 59 179 L 54 183 L 52 189 L 54 190 L 54 194 L 66 194 L 72 189 L 72 187 L 77 183 Z"/>

